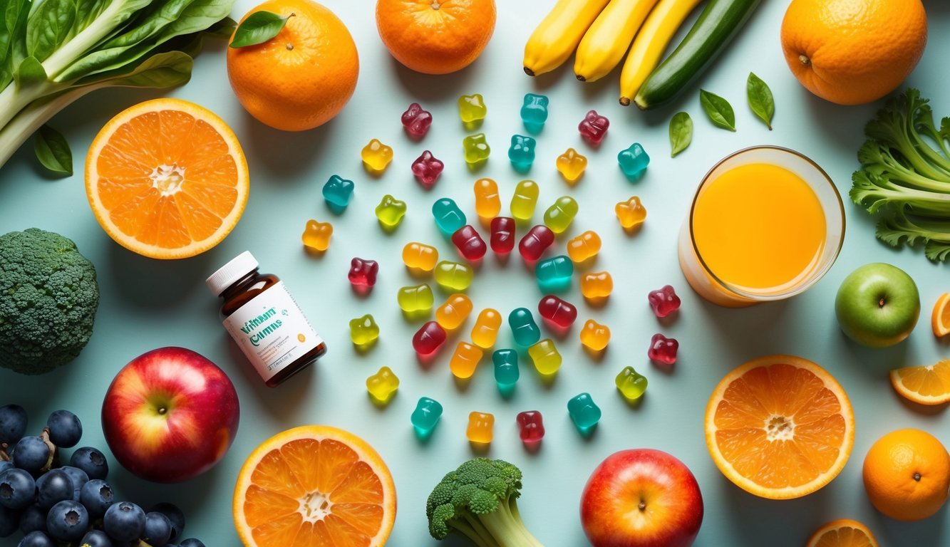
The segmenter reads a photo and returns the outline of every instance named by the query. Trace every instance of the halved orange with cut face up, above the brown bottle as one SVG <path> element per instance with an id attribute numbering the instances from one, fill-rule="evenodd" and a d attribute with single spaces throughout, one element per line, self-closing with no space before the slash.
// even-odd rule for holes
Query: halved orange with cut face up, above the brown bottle
<path id="1" fill-rule="evenodd" d="M 210 110 L 156 99 L 104 125 L 85 160 L 92 213 L 117 243 L 152 258 L 185 258 L 217 245 L 248 195 L 247 161 Z"/>

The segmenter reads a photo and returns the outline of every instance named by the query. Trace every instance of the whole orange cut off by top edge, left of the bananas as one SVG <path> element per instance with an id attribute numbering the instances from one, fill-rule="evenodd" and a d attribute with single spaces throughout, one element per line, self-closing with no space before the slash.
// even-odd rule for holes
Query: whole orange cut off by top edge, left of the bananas
<path id="1" fill-rule="evenodd" d="M 495 30 L 495 1 L 379 0 L 376 28 L 396 61 L 447 74 L 482 54 Z"/>

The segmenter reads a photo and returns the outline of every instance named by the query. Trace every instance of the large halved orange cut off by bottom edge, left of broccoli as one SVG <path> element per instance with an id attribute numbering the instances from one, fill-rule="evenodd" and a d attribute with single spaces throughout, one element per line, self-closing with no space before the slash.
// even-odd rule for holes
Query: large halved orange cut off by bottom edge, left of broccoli
<path id="1" fill-rule="evenodd" d="M 232 510 L 246 547 L 380 547 L 396 518 L 396 487 L 365 441 L 304 425 L 248 457 Z"/>

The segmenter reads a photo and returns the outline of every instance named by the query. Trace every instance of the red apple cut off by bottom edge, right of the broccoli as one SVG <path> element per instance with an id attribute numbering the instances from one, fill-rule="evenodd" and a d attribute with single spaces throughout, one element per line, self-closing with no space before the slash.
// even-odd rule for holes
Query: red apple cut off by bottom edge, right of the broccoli
<path id="1" fill-rule="evenodd" d="M 689 547 L 702 522 L 693 473 L 660 450 L 612 454 L 580 497 L 580 523 L 594 547 Z"/>

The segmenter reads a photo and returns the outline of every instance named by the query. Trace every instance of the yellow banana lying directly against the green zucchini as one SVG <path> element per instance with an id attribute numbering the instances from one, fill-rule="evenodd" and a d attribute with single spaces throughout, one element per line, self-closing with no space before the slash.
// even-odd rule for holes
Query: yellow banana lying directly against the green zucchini
<path id="1" fill-rule="evenodd" d="M 702 0 L 659 0 L 637 32 L 620 71 L 620 104 L 629 106 L 640 85 L 659 65 L 663 51 L 686 17 Z"/>

